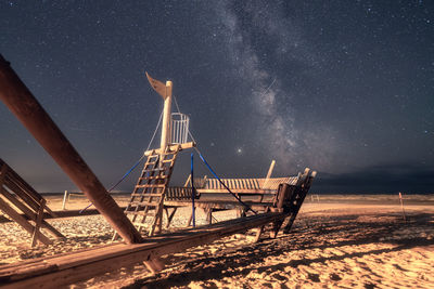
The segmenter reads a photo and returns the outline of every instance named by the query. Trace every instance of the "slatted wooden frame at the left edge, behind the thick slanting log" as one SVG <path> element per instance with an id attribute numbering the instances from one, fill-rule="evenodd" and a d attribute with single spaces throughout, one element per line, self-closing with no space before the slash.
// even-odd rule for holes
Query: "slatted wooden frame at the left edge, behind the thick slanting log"
<path id="1" fill-rule="evenodd" d="M 44 220 L 44 212 L 56 218 L 47 207 L 46 199 L 2 159 L 0 159 L 0 210 L 31 235 L 31 247 L 37 241 L 44 245 L 52 244 L 42 234 L 41 228 L 47 229 L 55 238 L 64 237 Z"/>

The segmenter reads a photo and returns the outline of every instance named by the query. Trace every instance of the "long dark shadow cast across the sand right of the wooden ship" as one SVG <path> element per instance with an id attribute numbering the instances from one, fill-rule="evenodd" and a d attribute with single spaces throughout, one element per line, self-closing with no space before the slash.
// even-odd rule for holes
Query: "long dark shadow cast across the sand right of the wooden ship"
<path id="1" fill-rule="evenodd" d="M 399 232 L 418 227 L 423 229 L 432 226 L 433 214 L 412 214 L 407 222 L 403 222 L 398 214 L 352 214 L 352 215 L 299 215 L 298 222 L 293 231 L 286 235 L 280 235 L 276 239 L 264 239 L 259 244 L 250 244 L 243 247 L 232 247 L 218 250 L 214 254 L 204 253 L 199 255 L 194 250 L 183 255 L 168 257 L 166 259 L 170 270 L 165 270 L 154 276 L 137 280 L 125 288 L 167 288 L 171 286 L 187 286 L 191 281 L 208 281 L 207 287 L 215 287 L 212 279 L 225 277 L 246 276 L 252 271 L 256 273 L 275 274 L 275 278 L 285 281 L 288 278 L 277 272 L 284 272 L 284 267 L 309 266 L 314 263 L 326 263 L 327 261 L 340 261 L 346 258 L 360 258 L 366 254 L 378 255 L 385 252 L 399 251 L 417 246 L 434 245 L 433 239 L 423 237 L 388 238 L 387 236 L 399 235 Z M 250 233 L 252 235 L 252 233 Z M 219 240 L 215 244 L 224 244 Z M 283 253 L 297 250 L 328 249 L 343 246 L 366 245 L 373 242 L 385 242 L 395 245 L 387 249 L 369 250 L 362 252 L 343 253 L 339 255 L 316 258 L 316 259 L 293 259 L 289 262 L 267 266 L 252 266 L 259 264 L 266 258 L 279 257 Z M 207 251 L 213 245 L 205 246 Z M 375 274 L 372 272 L 372 274 Z M 333 275 L 333 274 L 332 274 Z M 319 281 L 317 274 L 309 274 L 311 281 Z M 337 275 L 331 279 L 339 280 Z M 369 285 L 367 285 L 369 288 Z"/>

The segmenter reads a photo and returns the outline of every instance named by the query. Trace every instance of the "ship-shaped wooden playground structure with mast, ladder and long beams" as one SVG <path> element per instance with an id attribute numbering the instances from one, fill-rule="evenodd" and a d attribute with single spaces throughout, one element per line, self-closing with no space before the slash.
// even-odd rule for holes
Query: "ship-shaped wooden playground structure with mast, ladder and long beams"
<path id="1" fill-rule="evenodd" d="M 149 157 L 148 161 L 144 165 L 124 214 L 72 144 L 10 68 L 9 63 L 0 56 L 0 100 L 5 103 L 10 110 L 34 134 L 42 147 L 87 195 L 100 213 L 104 215 L 117 234 L 126 241 L 126 244 L 114 244 L 0 266 L 0 284 L 2 287 L 52 288 L 94 277 L 98 274 L 129 266 L 138 262 L 144 262 L 152 271 L 156 271 L 162 268 L 159 257 L 165 254 L 207 244 L 231 234 L 243 233 L 250 228 L 259 227 L 257 236 L 260 236 L 265 225 L 270 223 L 272 224 L 272 232 L 275 232 L 272 236 L 276 237 L 279 228 L 288 218 L 289 225 L 285 228 L 291 227 L 310 187 L 311 180 L 315 178 L 315 173 L 310 173 L 309 170 L 305 171 L 301 178 L 276 180 L 276 182 L 270 179 L 272 169 L 270 169 L 266 179 L 226 179 L 224 180 L 225 185 L 233 189 L 233 193 L 240 196 L 243 194 L 258 195 L 260 196 L 260 200 L 257 203 L 268 209 L 264 213 L 255 215 L 244 215 L 243 218 L 208 226 L 152 236 L 156 231 L 155 228 L 161 231 L 164 210 L 163 201 L 166 193 L 173 192 L 174 194 L 181 195 L 182 201 L 184 201 L 184 196 L 190 194 L 191 197 L 191 189 L 180 188 L 178 191 L 168 191 L 168 184 L 177 154 L 183 148 L 194 146 L 194 144 L 173 144 L 170 142 L 173 84 L 170 81 L 163 84 L 152 79 L 148 74 L 146 76 L 151 86 L 165 101 L 162 141 L 158 149 L 145 153 L 145 156 Z M 5 173 L 1 174 L 2 178 L 7 175 Z M 215 181 L 206 180 L 203 183 L 205 185 L 201 188 L 202 192 L 199 191 L 201 198 L 203 194 L 207 193 L 226 193 L 226 188 L 222 191 L 222 187 Z M 284 184 L 277 187 L 280 183 Z M 174 194 L 170 195 L 170 198 Z M 272 202 L 264 202 L 261 195 L 265 194 L 273 196 Z M 14 206 L 20 205 L 14 203 Z M 39 223 L 39 227 L 47 226 L 44 221 L 40 220 L 43 219 L 44 208 L 44 203 L 39 202 L 39 207 L 36 209 L 40 213 L 36 214 L 36 211 L 34 211 L 31 212 L 33 215 L 27 215 L 28 219 L 35 220 L 36 224 Z M 26 212 L 24 213 L 26 214 Z M 166 213 L 168 214 L 167 211 Z M 168 215 L 169 220 L 171 220 L 174 213 L 175 210 Z M 131 216 L 139 231 L 149 221 L 146 218 L 152 216 L 148 232 L 150 237 L 142 239 L 140 232 L 126 214 Z M 141 218 L 138 219 L 138 216 Z M 20 218 L 16 216 L 16 219 Z M 33 232 L 35 232 L 37 238 L 41 239 L 42 235 L 38 233 L 39 227 L 35 225 Z"/>

